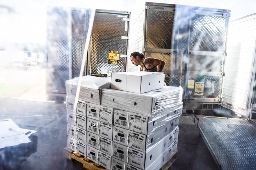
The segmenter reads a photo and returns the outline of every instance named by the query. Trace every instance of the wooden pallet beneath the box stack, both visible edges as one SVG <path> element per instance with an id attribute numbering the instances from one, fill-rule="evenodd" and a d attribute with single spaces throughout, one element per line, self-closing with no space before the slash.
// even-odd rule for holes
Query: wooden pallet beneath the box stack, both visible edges
<path id="1" fill-rule="evenodd" d="M 79 153 L 74 153 L 73 150 L 65 148 L 64 149 L 65 154 L 67 154 L 67 158 L 69 160 L 75 159 L 76 161 L 80 162 L 83 164 L 84 169 L 88 170 L 108 170 L 105 167 L 102 167 L 98 163 L 95 163 L 91 161 L 90 159 L 87 159 L 83 155 Z M 174 163 L 174 161 L 177 159 L 177 150 L 170 156 L 169 160 L 165 163 L 163 167 L 161 167 L 160 170 L 168 170 L 170 166 Z"/>

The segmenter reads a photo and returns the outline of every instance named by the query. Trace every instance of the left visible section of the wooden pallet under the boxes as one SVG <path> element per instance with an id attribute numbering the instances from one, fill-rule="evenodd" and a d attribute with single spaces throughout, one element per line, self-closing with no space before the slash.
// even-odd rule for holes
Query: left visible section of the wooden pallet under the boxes
<path id="1" fill-rule="evenodd" d="M 95 162 L 91 161 L 90 159 L 87 159 L 83 155 L 81 155 L 79 153 L 74 153 L 74 151 L 71 150 L 71 149 L 65 148 L 64 152 L 65 152 L 65 154 L 67 154 L 67 158 L 69 160 L 75 159 L 76 161 L 82 163 L 84 169 L 88 169 L 88 170 L 108 170 L 105 167 L 102 167 L 101 165 L 99 165 L 98 163 L 95 163 Z"/>

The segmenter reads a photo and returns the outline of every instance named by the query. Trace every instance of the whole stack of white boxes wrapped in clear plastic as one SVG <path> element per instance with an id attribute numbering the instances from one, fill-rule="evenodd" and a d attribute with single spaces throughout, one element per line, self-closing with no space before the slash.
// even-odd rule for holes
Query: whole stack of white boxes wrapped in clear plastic
<path id="1" fill-rule="evenodd" d="M 112 73 L 111 88 L 89 87 L 89 78 L 81 78 L 76 105 L 86 103 L 87 108 L 87 153 L 83 155 L 107 169 L 160 169 L 177 150 L 182 88 L 163 86 L 164 74 L 157 72 Z M 93 79 L 110 82 L 110 78 Z M 78 84 L 78 78 L 66 81 L 67 110 L 69 92 L 75 94 Z M 74 116 L 74 120 L 77 124 L 80 119 Z M 71 144 L 80 140 L 79 131 L 75 132 L 76 136 L 69 133 L 73 142 L 69 140 L 68 146 L 77 151 L 77 145 Z"/>

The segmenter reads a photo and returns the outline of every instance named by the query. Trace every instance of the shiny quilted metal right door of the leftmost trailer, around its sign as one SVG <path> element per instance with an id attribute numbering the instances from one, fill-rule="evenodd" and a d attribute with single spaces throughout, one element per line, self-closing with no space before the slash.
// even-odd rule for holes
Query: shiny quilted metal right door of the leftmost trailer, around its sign
<path id="1" fill-rule="evenodd" d="M 118 64 L 108 63 L 109 50 L 119 51 L 119 55 L 127 54 L 128 41 L 121 39 L 122 36 L 128 36 L 125 27 L 127 27 L 125 21 L 122 17 L 118 17 L 117 13 L 95 13 L 91 47 L 88 50 L 88 65 L 85 69 L 87 75 L 90 73 L 108 75 L 109 72 L 125 71 L 126 58 L 119 56 Z"/>

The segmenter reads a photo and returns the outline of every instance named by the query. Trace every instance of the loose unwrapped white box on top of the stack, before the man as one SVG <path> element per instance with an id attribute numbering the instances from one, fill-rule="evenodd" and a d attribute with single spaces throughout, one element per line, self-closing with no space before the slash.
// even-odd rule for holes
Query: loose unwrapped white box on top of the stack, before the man
<path id="1" fill-rule="evenodd" d="M 164 80 L 162 72 L 114 72 L 111 75 L 111 88 L 144 93 L 163 88 Z"/>

